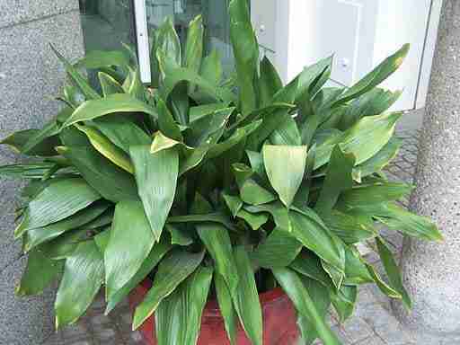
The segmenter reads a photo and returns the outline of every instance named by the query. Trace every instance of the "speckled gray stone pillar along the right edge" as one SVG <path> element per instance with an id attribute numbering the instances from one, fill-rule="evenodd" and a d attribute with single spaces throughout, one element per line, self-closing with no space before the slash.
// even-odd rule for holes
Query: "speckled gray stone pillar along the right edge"
<path id="1" fill-rule="evenodd" d="M 411 208 L 432 217 L 445 241 L 404 241 L 403 282 L 413 308 L 411 314 L 399 305 L 394 308 L 417 333 L 420 345 L 456 344 L 460 338 L 459 37 L 460 2 L 445 0 L 420 136 L 417 188 L 411 199 Z M 429 335 L 440 342 L 424 341 Z"/>

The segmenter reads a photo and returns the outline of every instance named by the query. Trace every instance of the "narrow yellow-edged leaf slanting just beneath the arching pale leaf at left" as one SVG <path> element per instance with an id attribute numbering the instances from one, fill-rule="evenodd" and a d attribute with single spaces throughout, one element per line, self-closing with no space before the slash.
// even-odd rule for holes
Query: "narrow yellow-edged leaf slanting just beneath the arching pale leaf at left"
<path id="1" fill-rule="evenodd" d="M 105 137 L 99 130 L 88 126 L 75 124 L 75 127 L 84 132 L 88 137 L 91 145 L 111 163 L 118 165 L 121 169 L 128 173 L 134 173 L 133 164 L 129 156 L 118 146 L 113 144 L 109 138 Z"/>

